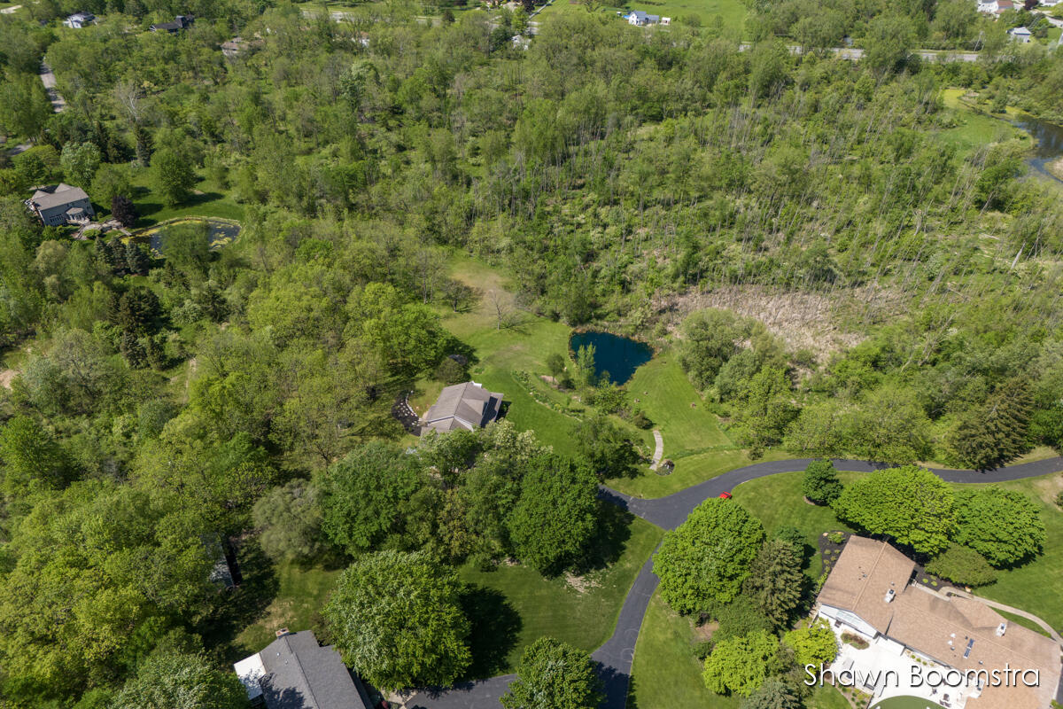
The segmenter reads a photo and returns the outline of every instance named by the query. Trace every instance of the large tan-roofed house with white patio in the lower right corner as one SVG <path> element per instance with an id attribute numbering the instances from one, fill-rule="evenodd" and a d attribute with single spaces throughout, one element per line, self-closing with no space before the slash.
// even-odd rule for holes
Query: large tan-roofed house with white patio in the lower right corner
<path id="1" fill-rule="evenodd" d="M 980 601 L 910 584 L 914 570 L 911 559 L 884 542 L 849 538 L 816 607 L 842 641 L 831 668 L 836 676 L 848 671 L 855 677 L 849 683 L 876 702 L 908 695 L 950 709 L 1047 709 L 1059 687 L 1060 646 Z M 851 642 L 854 637 L 867 646 Z M 1029 672 L 1008 681 L 986 677 L 1008 668 Z M 885 675 L 890 670 L 898 676 Z M 950 674 L 952 682 L 913 679 L 949 670 L 958 671 Z M 960 675 L 964 679 L 957 683 Z M 1034 679 L 1036 686 L 1028 686 Z"/>

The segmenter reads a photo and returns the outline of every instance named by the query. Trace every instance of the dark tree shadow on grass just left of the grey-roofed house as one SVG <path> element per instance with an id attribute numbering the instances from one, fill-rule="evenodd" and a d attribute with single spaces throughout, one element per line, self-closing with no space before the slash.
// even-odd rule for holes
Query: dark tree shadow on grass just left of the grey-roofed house
<path id="1" fill-rule="evenodd" d="M 241 659 L 248 653 L 236 644 L 236 637 L 258 621 L 280 590 L 276 571 L 256 541 L 237 550 L 242 583 L 227 591 L 218 591 L 209 610 L 196 624 L 203 644 L 213 648 L 225 662 Z M 259 648 L 260 649 L 260 648 Z"/>

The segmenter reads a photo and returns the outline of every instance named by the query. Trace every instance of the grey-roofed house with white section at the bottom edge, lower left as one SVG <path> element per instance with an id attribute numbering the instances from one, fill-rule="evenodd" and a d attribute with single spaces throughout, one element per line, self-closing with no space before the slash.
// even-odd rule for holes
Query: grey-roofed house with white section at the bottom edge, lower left
<path id="1" fill-rule="evenodd" d="M 252 706 L 266 709 L 369 709 L 366 690 L 339 653 L 313 630 L 276 634 L 260 653 L 233 665 Z"/>

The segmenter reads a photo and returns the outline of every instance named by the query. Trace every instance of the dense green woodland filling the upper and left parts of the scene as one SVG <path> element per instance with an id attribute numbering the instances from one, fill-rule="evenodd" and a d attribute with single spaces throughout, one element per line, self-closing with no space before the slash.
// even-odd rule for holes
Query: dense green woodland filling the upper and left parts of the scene
<path id="1" fill-rule="evenodd" d="M 155 706 L 161 678 L 192 677 L 210 698 L 188 706 L 240 706 L 204 547 L 253 529 L 274 558 L 356 564 L 327 627 L 383 687 L 471 661 L 456 611 L 420 639 L 445 662 L 358 655 L 372 638 L 345 635 L 368 625 L 351 609 L 387 578 L 423 591 L 416 614 L 453 610 L 451 564 L 595 563 L 596 482 L 632 465 L 607 420 L 574 459 L 506 424 L 398 443 L 395 393 L 460 381 L 448 355 L 472 354 L 440 323 L 479 297 L 453 253 L 510 270 L 527 311 L 675 347 L 755 453 L 981 468 L 1063 445 L 1057 187 L 1027 178 L 1019 140 L 940 138 L 962 120 L 947 87 L 1063 116 L 1063 54 L 1006 43 L 973 0 L 916 4 L 757 3 L 747 50 L 711 23 L 583 12 L 522 50 L 520 13 L 433 22 L 402 2 L 343 22 L 268 0 L 0 15 L 0 128 L 35 141 L 0 157 L 0 342 L 20 358 L 0 428 L 4 700 Z M 73 10 L 99 24 L 52 21 Z M 195 27 L 146 31 L 176 13 Z M 249 45 L 226 60 L 234 35 Z M 866 61 L 820 51 L 846 36 Z M 43 229 L 21 203 L 64 180 L 134 224 L 145 185 L 180 205 L 201 178 L 242 209 L 239 238 L 171 229 L 165 258 Z M 824 299 L 859 343 L 798 350 L 665 306 L 725 287 Z"/>

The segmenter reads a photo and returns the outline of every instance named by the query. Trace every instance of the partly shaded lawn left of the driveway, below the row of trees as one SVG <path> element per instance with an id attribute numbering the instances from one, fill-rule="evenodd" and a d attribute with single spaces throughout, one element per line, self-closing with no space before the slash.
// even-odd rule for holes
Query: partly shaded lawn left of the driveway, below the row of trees
<path id="1" fill-rule="evenodd" d="M 511 672 L 524 647 L 550 636 L 586 651 L 596 649 L 612 635 L 617 615 L 635 577 L 663 534 L 658 527 L 602 503 L 606 527 L 600 545 L 607 565 L 583 574 L 575 583 L 567 577 L 544 578 L 522 565 L 491 571 L 463 567 L 463 581 L 478 587 L 475 606 L 473 654 L 479 677 Z M 577 588 L 580 587 L 580 588 Z M 479 628 L 479 629 L 476 629 Z M 491 652 L 477 653 L 478 644 Z"/>

